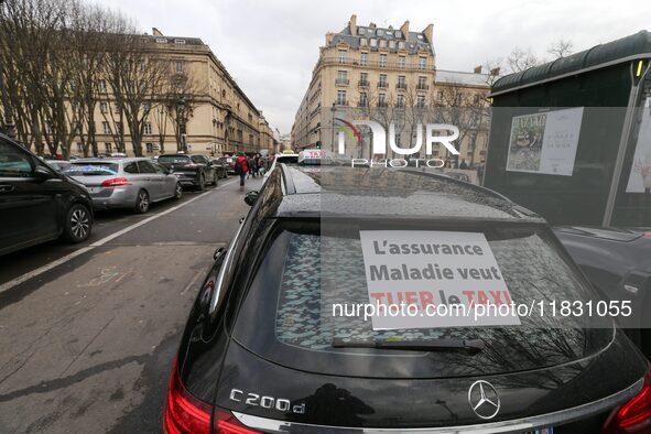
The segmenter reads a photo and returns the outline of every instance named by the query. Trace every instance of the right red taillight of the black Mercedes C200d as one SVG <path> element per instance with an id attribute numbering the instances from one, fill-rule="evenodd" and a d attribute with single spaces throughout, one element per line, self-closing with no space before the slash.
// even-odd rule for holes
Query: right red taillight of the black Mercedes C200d
<path id="1" fill-rule="evenodd" d="M 642 390 L 610 414 L 603 434 L 649 432 L 651 432 L 651 368 L 644 376 Z"/>

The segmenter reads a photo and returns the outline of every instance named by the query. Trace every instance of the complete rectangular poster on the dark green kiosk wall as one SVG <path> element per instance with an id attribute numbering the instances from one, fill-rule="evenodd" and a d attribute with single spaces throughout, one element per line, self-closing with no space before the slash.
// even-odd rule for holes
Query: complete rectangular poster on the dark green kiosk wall
<path id="1" fill-rule="evenodd" d="M 514 117 L 507 171 L 572 176 L 582 118 L 583 107 Z"/>

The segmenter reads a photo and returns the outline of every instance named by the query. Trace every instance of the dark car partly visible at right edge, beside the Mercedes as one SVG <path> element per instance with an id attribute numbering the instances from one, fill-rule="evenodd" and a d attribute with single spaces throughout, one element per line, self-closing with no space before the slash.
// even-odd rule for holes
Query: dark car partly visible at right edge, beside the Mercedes
<path id="1" fill-rule="evenodd" d="M 554 232 L 607 300 L 628 300 L 633 315 L 621 324 L 651 358 L 651 228 L 564 226 Z"/>

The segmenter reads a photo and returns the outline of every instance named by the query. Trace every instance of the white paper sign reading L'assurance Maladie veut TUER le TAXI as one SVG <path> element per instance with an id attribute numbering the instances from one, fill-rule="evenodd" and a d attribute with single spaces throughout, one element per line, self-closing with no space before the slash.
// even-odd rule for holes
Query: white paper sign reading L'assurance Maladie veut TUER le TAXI
<path id="1" fill-rule="evenodd" d="M 369 303 L 404 303 L 417 310 L 415 316 L 376 315 L 373 329 L 520 324 L 518 316 L 497 312 L 475 318 L 473 311 L 479 304 L 511 304 L 511 295 L 484 234 L 362 230 L 359 235 Z M 453 304 L 465 305 L 468 315 L 430 314 L 436 312 L 437 305 Z M 438 311 L 445 312 L 441 307 Z"/>

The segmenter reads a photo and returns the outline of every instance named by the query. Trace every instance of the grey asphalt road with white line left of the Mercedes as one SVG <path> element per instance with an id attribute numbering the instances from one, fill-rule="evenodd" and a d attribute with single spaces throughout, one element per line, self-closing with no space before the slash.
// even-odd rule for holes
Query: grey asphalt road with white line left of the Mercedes
<path id="1" fill-rule="evenodd" d="M 1 258 L 0 433 L 159 433 L 180 335 L 243 193 L 221 180 L 144 216 L 100 213 L 84 245 Z"/>

